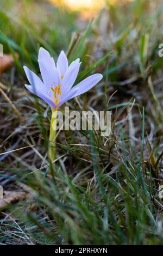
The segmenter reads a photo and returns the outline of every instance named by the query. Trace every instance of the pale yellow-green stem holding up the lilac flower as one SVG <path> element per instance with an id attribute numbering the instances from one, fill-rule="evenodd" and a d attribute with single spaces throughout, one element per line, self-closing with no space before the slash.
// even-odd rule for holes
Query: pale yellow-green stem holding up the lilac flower
<path id="1" fill-rule="evenodd" d="M 57 109 L 52 109 L 52 117 L 51 117 L 51 127 L 49 134 L 49 149 L 48 156 L 49 161 L 55 160 L 55 136 L 56 136 L 56 126 L 57 126 Z"/>

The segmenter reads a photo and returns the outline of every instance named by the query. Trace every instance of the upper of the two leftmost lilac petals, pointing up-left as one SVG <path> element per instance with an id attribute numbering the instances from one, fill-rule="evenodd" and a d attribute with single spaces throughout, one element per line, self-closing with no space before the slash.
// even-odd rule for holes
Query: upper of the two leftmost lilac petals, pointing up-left
<path id="1" fill-rule="evenodd" d="M 23 66 L 24 71 L 26 72 L 26 76 L 28 78 L 29 83 L 34 87 L 37 88 L 38 91 L 42 92 L 42 93 L 46 93 L 47 89 L 45 87 L 45 85 L 43 84 L 43 82 L 41 81 L 41 79 L 36 76 L 36 74 L 27 68 L 27 66 Z"/>

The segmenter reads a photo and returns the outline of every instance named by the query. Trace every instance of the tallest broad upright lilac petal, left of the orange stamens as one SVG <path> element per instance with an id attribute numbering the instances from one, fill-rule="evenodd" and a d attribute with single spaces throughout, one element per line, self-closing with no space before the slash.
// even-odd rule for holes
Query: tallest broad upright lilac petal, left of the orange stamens
<path id="1" fill-rule="evenodd" d="M 39 50 L 39 67 L 43 83 L 49 88 L 52 85 L 58 86 L 58 75 L 54 59 L 48 51 L 40 47 Z"/>

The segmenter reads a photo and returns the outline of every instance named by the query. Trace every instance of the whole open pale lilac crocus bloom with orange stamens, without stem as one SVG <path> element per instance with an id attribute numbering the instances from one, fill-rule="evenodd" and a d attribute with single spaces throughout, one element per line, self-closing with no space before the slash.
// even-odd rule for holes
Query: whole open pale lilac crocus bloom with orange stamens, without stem
<path id="1" fill-rule="evenodd" d="M 49 52 L 41 47 L 38 62 L 42 81 L 33 71 L 24 66 L 30 83 L 30 85 L 25 84 L 25 87 L 46 101 L 52 109 L 57 109 L 67 100 L 87 92 L 103 77 L 101 74 L 91 75 L 72 88 L 81 64 L 79 58 L 68 66 L 67 57 L 64 51 L 61 51 L 55 65 Z"/>

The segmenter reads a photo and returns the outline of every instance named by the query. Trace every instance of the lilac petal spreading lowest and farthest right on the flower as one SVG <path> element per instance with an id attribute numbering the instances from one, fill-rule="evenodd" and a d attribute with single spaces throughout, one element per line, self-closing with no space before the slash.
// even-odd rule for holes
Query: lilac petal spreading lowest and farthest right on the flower
<path id="1" fill-rule="evenodd" d="M 78 83 L 76 86 L 74 86 L 70 90 L 70 93 L 73 93 L 73 96 L 70 99 L 87 92 L 93 86 L 95 86 L 99 81 L 101 81 L 102 78 L 103 76 L 101 74 L 94 74 L 85 78 L 82 82 Z"/>

